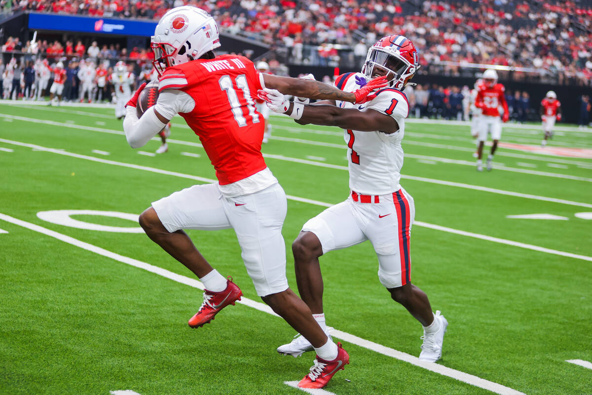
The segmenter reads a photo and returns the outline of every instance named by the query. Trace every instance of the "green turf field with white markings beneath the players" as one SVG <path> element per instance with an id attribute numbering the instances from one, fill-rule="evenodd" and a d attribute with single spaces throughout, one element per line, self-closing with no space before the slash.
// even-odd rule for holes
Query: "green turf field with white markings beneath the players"
<path id="1" fill-rule="evenodd" d="M 338 129 L 279 117 L 272 124 L 263 152 L 290 196 L 284 237 L 291 251 L 306 220 L 348 196 L 346 149 Z M 158 139 L 131 149 L 121 130 L 108 108 L 0 104 L 0 394 L 304 394 L 284 381 L 300 380 L 314 355 L 278 355 L 275 348 L 295 333 L 260 304 L 237 304 L 190 329 L 199 284 L 146 235 L 37 216 L 139 214 L 214 178 L 182 118 L 173 120 L 163 155 L 148 155 Z M 532 146 L 542 137 L 536 126 L 503 133 L 503 142 Z M 372 246 L 362 243 L 321 258 L 327 324 L 340 331 L 351 362 L 324 389 L 592 394 L 592 370 L 566 362 L 592 362 L 592 159 L 501 147 L 497 168 L 478 173 L 468 126 L 442 123 L 407 123 L 403 147 L 401 184 L 417 211 L 412 281 L 448 319 L 443 358 L 417 362 L 422 327 L 382 288 Z M 590 150 L 592 134 L 559 131 L 549 147 Z M 523 214 L 562 219 L 506 218 Z M 137 227 L 114 217 L 72 218 Z M 247 299 L 260 302 L 232 230 L 189 235 Z M 295 289 L 291 253 L 287 259 Z"/>

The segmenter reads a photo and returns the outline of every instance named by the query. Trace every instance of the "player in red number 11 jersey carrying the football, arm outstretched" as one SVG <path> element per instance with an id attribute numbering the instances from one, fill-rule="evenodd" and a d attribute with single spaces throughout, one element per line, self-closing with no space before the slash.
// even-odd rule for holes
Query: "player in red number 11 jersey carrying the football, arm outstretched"
<path id="1" fill-rule="evenodd" d="M 232 228 L 257 294 L 313 344 L 320 358 L 332 367 L 345 367 L 348 354 L 327 337 L 308 306 L 288 287 L 281 233 L 287 200 L 263 160 L 263 120 L 254 98 L 267 86 L 297 97 L 361 102 L 386 84 L 384 78 L 343 92 L 316 81 L 259 73 L 246 57 L 215 56 L 218 27 L 210 14 L 191 6 L 168 11 L 151 41 L 160 93 L 140 118 L 134 107 L 143 86 L 130 99 L 123 124 L 127 141 L 134 148 L 143 146 L 180 114 L 200 138 L 218 178 L 215 184 L 194 185 L 155 201 L 140 215 L 150 239 L 204 284 L 204 301 L 189 326 L 210 322 L 242 292 L 212 268 L 183 229 Z M 319 383 L 326 384 L 337 370 L 325 372 Z"/>

